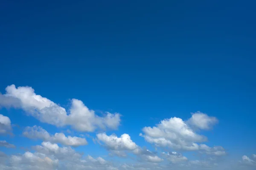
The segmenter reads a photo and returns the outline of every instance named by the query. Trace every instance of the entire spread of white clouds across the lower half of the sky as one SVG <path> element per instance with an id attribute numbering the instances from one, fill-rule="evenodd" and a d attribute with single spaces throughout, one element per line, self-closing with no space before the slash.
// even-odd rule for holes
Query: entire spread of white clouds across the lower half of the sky
<path id="1" fill-rule="evenodd" d="M 0 106 L 6 108 L 20 108 L 28 115 L 35 117 L 56 127 L 67 127 L 67 133 L 101 132 L 107 129 L 117 129 L 120 125 L 119 113 L 106 112 L 99 116 L 90 110 L 81 100 L 72 99 L 70 107 L 66 110 L 51 100 L 35 94 L 31 87 L 18 87 L 15 85 L 6 88 L 6 94 L 0 94 Z M 87 145 L 87 140 L 78 136 L 66 136 L 64 133 L 49 133 L 40 126 L 26 127 L 23 136 L 29 139 L 39 139 L 41 145 L 32 146 L 32 150 L 24 153 L 6 154 L 0 152 L 0 169 L 2 170 L 253 170 L 256 166 L 256 155 L 242 156 L 235 163 L 220 165 L 226 156 L 226 150 L 221 146 L 209 147 L 204 144 L 207 137 L 201 134 L 202 130 L 210 130 L 218 123 L 218 119 L 202 112 L 192 113 L 187 120 L 178 117 L 163 119 L 157 125 L 143 127 L 140 136 L 155 147 L 155 151 L 137 145 L 135 140 L 127 133 L 121 136 L 107 133 L 87 135 L 95 144 L 100 143 L 108 150 L 108 155 L 90 156 L 78 152 L 78 146 Z M 43 124 L 44 125 L 44 124 Z M 43 126 L 42 125 L 42 126 Z M 12 124 L 7 116 L 0 114 L 0 134 L 12 132 Z M 8 141 L 8 140 L 7 140 Z M 5 140 L 0 146 L 12 148 Z M 86 148 L 88 146 L 84 146 Z M 90 146 L 91 147 L 91 146 Z M 79 147 L 81 148 L 81 147 Z M 163 152 L 164 151 L 164 152 Z M 192 159 L 186 155 L 193 151 L 197 157 Z M 85 149 L 86 152 L 86 149 Z M 200 153 L 200 154 L 198 154 Z M 189 153 L 190 154 L 190 153 Z M 193 155 L 195 157 L 195 155 Z M 119 156 L 125 160 L 114 161 Z M 233 165 L 233 166 L 232 166 Z M 221 169 L 222 168 L 222 169 Z"/>

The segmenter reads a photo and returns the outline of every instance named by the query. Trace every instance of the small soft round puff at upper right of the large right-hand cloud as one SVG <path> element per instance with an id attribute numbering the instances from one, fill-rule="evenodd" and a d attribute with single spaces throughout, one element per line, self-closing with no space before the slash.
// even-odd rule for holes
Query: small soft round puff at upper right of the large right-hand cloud
<path id="1" fill-rule="evenodd" d="M 209 130 L 213 125 L 218 123 L 218 119 L 210 117 L 205 113 L 192 113 L 191 118 L 187 121 L 189 125 L 195 126 L 202 130 Z"/>

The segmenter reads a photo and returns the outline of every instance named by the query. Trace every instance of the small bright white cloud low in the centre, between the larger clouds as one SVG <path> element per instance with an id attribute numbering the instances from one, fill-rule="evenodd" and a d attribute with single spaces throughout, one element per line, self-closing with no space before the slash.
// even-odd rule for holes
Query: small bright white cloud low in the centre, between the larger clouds
<path id="1" fill-rule="evenodd" d="M 137 148 L 131 137 L 128 134 L 122 134 L 120 137 L 116 135 L 106 135 L 106 133 L 98 133 L 97 138 L 99 141 L 105 143 L 105 146 L 110 150 L 134 150 Z"/>

